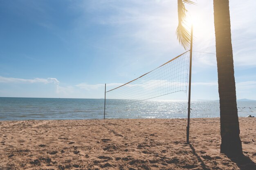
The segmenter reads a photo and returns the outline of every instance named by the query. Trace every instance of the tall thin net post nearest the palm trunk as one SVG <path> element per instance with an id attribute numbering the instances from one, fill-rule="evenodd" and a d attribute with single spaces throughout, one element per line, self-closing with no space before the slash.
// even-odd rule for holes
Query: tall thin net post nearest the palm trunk
<path id="1" fill-rule="evenodd" d="M 190 123 L 192 47 L 193 47 L 193 24 L 191 24 L 191 35 L 190 35 L 188 125 L 186 126 L 186 142 L 187 142 L 188 144 L 189 144 L 189 123 Z"/>

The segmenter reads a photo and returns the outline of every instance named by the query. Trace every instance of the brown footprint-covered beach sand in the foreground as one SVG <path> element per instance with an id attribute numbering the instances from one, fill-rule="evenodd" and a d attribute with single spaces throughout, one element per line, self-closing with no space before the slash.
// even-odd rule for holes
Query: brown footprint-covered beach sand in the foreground
<path id="1" fill-rule="evenodd" d="M 0 121 L 0 169 L 254 169 L 256 118 L 239 118 L 245 157 L 220 154 L 219 118 Z"/>

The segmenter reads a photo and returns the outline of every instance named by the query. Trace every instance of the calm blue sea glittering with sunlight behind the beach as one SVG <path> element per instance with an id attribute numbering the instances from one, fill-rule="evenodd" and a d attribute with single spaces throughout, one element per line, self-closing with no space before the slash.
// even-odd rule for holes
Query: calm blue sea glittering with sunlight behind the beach
<path id="1" fill-rule="evenodd" d="M 127 100 L 129 102 L 129 100 Z M 187 101 L 109 99 L 106 118 L 187 118 Z M 238 116 L 256 117 L 255 101 L 238 101 Z M 103 119 L 104 99 L 0 97 L 0 120 Z M 219 101 L 191 101 L 191 118 L 220 117 Z"/>

